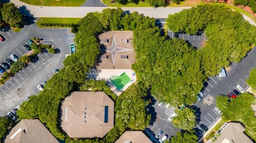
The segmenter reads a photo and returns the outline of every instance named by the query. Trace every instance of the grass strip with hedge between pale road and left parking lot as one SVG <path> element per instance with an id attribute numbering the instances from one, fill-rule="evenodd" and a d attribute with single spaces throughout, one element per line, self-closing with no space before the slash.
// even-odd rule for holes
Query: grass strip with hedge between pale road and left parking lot
<path id="1" fill-rule="evenodd" d="M 36 25 L 40 28 L 51 28 L 51 27 L 44 27 L 41 26 L 41 23 L 66 23 L 66 24 L 72 24 L 72 23 L 77 23 L 81 20 L 82 18 L 39 18 L 36 21 Z M 58 28 L 67 28 L 67 27 L 58 27 Z"/>

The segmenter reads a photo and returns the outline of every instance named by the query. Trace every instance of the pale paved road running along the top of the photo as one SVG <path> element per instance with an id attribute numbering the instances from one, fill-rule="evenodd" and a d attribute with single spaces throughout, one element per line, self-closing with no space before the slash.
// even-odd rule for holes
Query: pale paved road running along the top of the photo
<path id="1" fill-rule="evenodd" d="M 35 17 L 52 17 L 52 18 L 83 18 L 89 12 L 101 12 L 107 7 L 65 7 L 65 6 L 36 6 L 30 5 L 19 0 L 11 0 L 18 7 L 22 7 L 22 13 L 30 12 Z M 111 7 L 116 8 L 116 7 Z M 124 11 L 138 11 L 153 18 L 167 18 L 169 14 L 180 12 L 190 7 L 123 7 Z"/>

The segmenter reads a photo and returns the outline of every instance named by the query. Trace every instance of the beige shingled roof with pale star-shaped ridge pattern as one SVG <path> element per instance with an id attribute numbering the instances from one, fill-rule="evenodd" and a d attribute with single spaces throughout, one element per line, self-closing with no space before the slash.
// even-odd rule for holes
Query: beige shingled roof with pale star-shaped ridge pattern
<path id="1" fill-rule="evenodd" d="M 136 62 L 133 31 L 106 31 L 99 38 L 106 46 L 106 53 L 101 56 L 98 69 L 131 69 Z"/>

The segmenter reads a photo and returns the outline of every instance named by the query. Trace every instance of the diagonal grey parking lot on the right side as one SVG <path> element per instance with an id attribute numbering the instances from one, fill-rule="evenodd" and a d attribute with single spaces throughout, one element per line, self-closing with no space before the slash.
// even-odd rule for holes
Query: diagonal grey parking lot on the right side
<path id="1" fill-rule="evenodd" d="M 249 72 L 256 67 L 255 54 L 256 49 L 253 48 L 241 62 L 231 64 L 227 77 L 219 77 L 217 75 L 208 78 L 204 82 L 202 89 L 204 92 L 203 99 L 194 104 L 195 107 L 199 108 L 199 124 L 203 123 L 207 128 L 210 128 L 219 119 L 220 113 L 216 110 L 215 103 L 218 95 L 227 95 L 234 89 L 238 90 L 237 85 L 242 86 L 244 90 L 249 88 L 246 79 L 249 77 Z M 197 134 L 200 134 L 200 132 L 203 131 L 197 131 Z"/>

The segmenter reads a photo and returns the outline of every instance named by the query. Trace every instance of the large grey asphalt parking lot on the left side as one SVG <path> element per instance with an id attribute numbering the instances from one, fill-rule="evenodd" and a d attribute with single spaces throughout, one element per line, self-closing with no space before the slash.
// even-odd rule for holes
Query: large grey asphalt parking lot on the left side
<path id="1" fill-rule="evenodd" d="M 11 54 L 18 57 L 26 54 L 28 51 L 24 45 L 28 45 L 27 41 L 31 37 L 43 38 L 43 44 L 54 45 L 60 49 L 59 54 L 52 55 L 47 51 L 38 54 L 35 63 L 30 62 L 0 87 L 0 116 L 4 116 L 20 105 L 26 97 L 36 95 L 39 92 L 37 86 L 50 79 L 54 69 L 62 68 L 66 54 L 70 54 L 69 46 L 73 43 L 74 34 L 69 29 L 39 29 L 35 24 L 26 26 L 19 33 L 4 30 L 1 34 L 5 37 L 5 41 L 0 43 L 1 63 L 10 58 Z"/>

